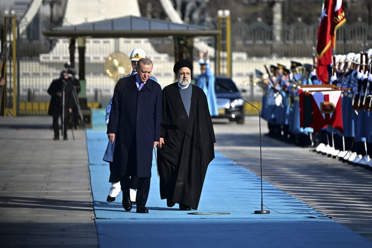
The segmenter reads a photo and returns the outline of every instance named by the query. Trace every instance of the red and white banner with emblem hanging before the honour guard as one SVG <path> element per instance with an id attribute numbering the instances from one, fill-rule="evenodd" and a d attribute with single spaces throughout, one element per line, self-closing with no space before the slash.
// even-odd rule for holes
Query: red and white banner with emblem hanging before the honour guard
<path id="1" fill-rule="evenodd" d="M 311 95 L 313 133 L 327 124 L 343 133 L 341 90 L 315 91 Z"/>

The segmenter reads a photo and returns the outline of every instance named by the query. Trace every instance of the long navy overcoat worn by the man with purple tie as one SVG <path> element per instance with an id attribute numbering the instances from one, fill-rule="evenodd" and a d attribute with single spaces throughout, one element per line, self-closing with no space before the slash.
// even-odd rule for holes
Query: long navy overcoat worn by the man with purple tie
<path id="1" fill-rule="evenodd" d="M 154 141 L 160 138 L 162 90 L 148 79 L 140 91 L 136 75 L 114 89 L 107 133 L 115 133 L 112 168 L 117 175 L 151 177 Z"/>

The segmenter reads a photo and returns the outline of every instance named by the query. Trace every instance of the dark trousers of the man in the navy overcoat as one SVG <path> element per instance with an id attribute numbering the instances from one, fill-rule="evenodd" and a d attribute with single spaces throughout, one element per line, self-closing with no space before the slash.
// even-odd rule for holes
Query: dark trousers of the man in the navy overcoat
<path id="1" fill-rule="evenodd" d="M 151 178 L 136 178 L 136 207 L 146 206 L 148 193 L 150 191 L 150 179 Z M 129 188 L 133 187 L 133 179 L 129 176 L 121 176 L 120 184 L 122 186 L 123 198 L 129 197 Z"/>

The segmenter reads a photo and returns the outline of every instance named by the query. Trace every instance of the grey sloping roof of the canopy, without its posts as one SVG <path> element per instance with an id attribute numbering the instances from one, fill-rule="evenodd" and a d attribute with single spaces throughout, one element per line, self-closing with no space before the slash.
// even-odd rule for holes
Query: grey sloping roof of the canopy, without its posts
<path id="1" fill-rule="evenodd" d="M 217 36 L 221 32 L 204 26 L 180 24 L 166 20 L 129 15 L 120 18 L 57 27 L 53 28 L 52 31 L 44 31 L 43 34 L 52 37 L 149 38 L 167 36 Z"/>

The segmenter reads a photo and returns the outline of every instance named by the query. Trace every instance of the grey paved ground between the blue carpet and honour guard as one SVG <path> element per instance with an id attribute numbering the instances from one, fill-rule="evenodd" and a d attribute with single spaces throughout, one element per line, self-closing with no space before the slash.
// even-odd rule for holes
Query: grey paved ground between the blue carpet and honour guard
<path id="1" fill-rule="evenodd" d="M 372 240 L 372 171 L 270 138 L 264 121 L 261 129 L 263 178 Z M 215 123 L 214 130 L 217 151 L 260 175 L 257 117 Z"/>

